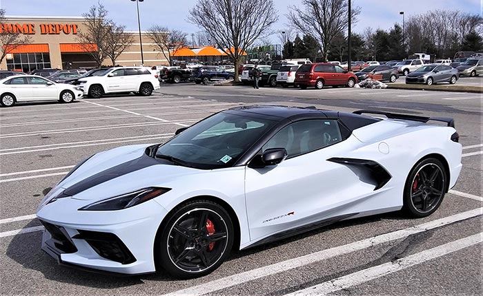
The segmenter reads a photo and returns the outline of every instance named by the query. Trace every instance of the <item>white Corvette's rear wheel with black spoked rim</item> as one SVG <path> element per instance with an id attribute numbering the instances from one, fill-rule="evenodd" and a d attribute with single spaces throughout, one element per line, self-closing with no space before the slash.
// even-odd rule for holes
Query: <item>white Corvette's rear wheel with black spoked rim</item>
<path id="1" fill-rule="evenodd" d="M 404 212 L 413 218 L 434 213 L 443 201 L 447 182 L 448 176 L 440 160 L 426 158 L 418 162 L 404 185 Z"/>

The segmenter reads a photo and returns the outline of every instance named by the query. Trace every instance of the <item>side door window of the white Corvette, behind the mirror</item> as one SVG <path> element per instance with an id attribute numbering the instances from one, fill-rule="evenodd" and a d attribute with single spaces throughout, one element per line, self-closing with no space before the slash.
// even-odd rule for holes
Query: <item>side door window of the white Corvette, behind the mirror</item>
<path id="1" fill-rule="evenodd" d="M 262 151 L 285 148 L 288 158 L 322 149 L 342 141 L 337 120 L 302 120 L 287 125 L 273 136 Z"/>

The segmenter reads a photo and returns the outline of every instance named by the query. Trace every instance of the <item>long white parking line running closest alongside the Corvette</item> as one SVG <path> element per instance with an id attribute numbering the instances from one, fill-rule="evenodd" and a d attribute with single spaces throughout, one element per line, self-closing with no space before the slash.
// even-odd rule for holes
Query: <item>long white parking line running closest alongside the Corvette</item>
<path id="1" fill-rule="evenodd" d="M 299 268 L 301 266 L 306 266 L 308 264 L 313 264 L 315 262 L 327 260 L 332 257 L 337 257 L 340 255 L 345 255 L 348 253 L 353 253 L 355 251 L 367 249 L 377 244 L 392 242 L 393 240 L 400 240 L 405 237 L 408 237 L 409 235 L 413 235 L 415 233 L 422 233 L 424 231 L 428 231 L 429 229 L 436 229 L 444 225 L 477 217 L 482 214 L 483 214 L 483 208 L 466 211 L 464 213 L 458 213 L 456 215 L 451 215 L 446 218 L 441 218 L 424 224 L 416 225 L 413 227 L 409 227 L 407 229 L 402 229 L 399 231 L 393 231 L 391 233 L 377 235 L 375 237 L 367 238 L 365 240 L 352 242 L 351 244 L 344 244 L 343 246 L 335 246 L 334 248 L 331 248 L 331 249 L 326 249 L 326 250 L 318 251 L 308 255 L 304 255 L 301 257 L 296 257 L 290 260 L 285 260 L 275 264 L 270 264 L 268 266 L 255 268 L 251 271 L 245 271 L 244 273 L 238 273 L 236 275 L 222 277 L 221 279 L 215 279 L 214 281 L 206 282 L 204 284 L 199 284 L 197 286 L 193 286 L 183 290 L 177 290 L 175 292 L 172 292 L 166 295 L 173 295 L 173 296 L 174 295 L 203 295 L 207 293 L 213 293 L 215 291 L 218 291 L 224 288 L 229 288 L 232 286 L 253 281 L 254 279 L 259 279 L 262 277 L 266 277 L 268 275 L 275 275 L 277 273 L 290 271 L 294 268 Z"/>

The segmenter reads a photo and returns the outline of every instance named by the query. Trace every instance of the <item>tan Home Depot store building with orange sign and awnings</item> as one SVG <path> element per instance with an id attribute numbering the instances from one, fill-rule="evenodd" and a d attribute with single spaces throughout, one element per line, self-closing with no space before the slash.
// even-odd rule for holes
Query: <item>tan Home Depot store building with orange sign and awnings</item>
<path id="1" fill-rule="evenodd" d="M 86 52 L 88 46 L 79 44 L 77 34 L 84 28 L 83 17 L 6 17 L 0 33 L 9 30 L 30 36 L 30 43 L 14 48 L 0 64 L 0 69 L 30 72 L 34 69 L 92 68 L 96 66 Z M 139 33 L 132 34 L 132 45 L 116 59 L 118 65 L 141 65 Z M 144 65 L 168 65 L 162 52 L 146 34 L 141 34 Z M 110 65 L 110 59 L 104 61 Z"/>

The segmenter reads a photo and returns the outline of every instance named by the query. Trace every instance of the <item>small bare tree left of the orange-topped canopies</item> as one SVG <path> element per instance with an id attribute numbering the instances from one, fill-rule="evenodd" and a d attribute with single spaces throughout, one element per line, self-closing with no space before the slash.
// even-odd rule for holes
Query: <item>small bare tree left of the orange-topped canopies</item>
<path id="1" fill-rule="evenodd" d="M 148 36 L 152 42 L 156 43 L 159 51 L 172 65 L 171 54 L 179 48 L 186 46 L 186 33 L 178 30 L 169 30 L 161 25 L 153 25 L 148 29 Z"/>

